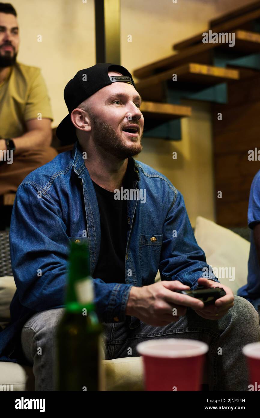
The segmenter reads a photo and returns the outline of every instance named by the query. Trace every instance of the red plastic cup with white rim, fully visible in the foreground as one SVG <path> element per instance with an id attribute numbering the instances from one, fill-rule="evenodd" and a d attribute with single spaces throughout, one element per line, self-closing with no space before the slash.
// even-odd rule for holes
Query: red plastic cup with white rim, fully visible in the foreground
<path id="1" fill-rule="evenodd" d="M 209 346 L 192 339 L 152 339 L 136 347 L 144 362 L 146 390 L 201 390 Z"/>

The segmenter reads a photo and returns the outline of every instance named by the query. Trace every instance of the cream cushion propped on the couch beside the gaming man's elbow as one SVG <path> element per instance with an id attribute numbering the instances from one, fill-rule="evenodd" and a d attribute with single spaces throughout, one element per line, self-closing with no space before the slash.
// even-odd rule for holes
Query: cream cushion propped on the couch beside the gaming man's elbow
<path id="1" fill-rule="evenodd" d="M 196 219 L 194 235 L 220 283 L 237 294 L 237 290 L 247 283 L 250 242 L 201 216 Z"/>

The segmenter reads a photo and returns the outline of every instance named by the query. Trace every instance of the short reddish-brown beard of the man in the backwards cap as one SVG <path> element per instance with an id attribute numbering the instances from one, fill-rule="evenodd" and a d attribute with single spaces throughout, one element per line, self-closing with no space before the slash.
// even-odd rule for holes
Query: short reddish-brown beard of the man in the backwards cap
<path id="1" fill-rule="evenodd" d="M 141 136 L 140 143 L 133 142 L 131 145 L 130 143 L 127 145 L 122 141 L 122 137 L 116 133 L 113 126 L 109 125 L 109 123 L 102 122 L 95 115 L 93 115 L 92 112 L 88 113 L 93 121 L 93 140 L 95 145 L 97 145 L 100 150 L 114 155 L 114 157 L 119 158 L 120 160 L 133 157 L 141 152 L 143 149 L 141 146 Z M 138 139 L 138 137 L 133 138 L 134 140 Z"/>

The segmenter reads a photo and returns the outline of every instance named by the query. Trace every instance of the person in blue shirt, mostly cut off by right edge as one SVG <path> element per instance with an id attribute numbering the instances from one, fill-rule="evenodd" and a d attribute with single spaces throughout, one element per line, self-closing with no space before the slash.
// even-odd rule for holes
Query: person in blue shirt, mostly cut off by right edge
<path id="1" fill-rule="evenodd" d="M 253 178 L 247 212 L 250 228 L 250 252 L 248 258 L 247 284 L 237 291 L 238 296 L 247 299 L 260 311 L 260 170 Z"/>

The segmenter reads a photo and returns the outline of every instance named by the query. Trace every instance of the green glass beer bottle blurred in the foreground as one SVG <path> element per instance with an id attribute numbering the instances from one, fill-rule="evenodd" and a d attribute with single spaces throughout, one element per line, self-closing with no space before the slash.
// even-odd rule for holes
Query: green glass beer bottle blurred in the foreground
<path id="1" fill-rule="evenodd" d="M 71 242 L 63 317 L 57 328 L 56 390 L 104 390 L 103 327 L 95 311 L 88 244 Z"/>

